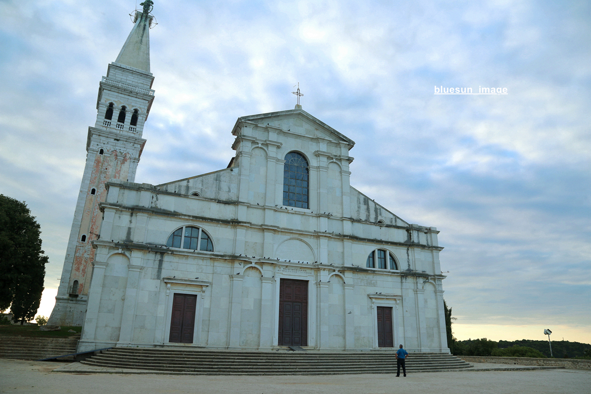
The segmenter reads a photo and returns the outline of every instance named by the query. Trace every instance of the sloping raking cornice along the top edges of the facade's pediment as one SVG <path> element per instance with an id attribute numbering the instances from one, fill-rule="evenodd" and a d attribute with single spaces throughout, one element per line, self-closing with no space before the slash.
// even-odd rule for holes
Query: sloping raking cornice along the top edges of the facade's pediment
<path id="1" fill-rule="evenodd" d="M 336 131 L 335 129 L 333 129 L 326 123 L 320 121 L 319 119 L 314 118 L 314 116 L 310 115 L 303 109 L 290 109 L 279 112 L 268 112 L 259 113 L 258 115 L 241 116 L 240 118 L 238 118 L 238 120 L 236 120 L 236 124 L 232 129 L 232 134 L 238 134 L 240 125 L 243 122 L 258 123 L 259 125 L 264 126 L 265 122 L 290 118 L 300 118 L 303 122 L 308 123 L 309 125 L 313 126 L 316 130 L 318 130 L 320 133 L 322 133 L 325 138 L 332 139 L 335 142 L 345 142 L 349 145 L 349 149 L 355 146 L 355 141 L 343 135 L 342 133 Z"/>

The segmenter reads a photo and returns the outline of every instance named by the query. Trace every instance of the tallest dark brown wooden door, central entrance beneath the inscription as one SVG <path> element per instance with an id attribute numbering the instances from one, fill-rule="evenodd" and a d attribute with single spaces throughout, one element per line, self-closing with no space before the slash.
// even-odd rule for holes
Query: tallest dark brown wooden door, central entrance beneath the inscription
<path id="1" fill-rule="evenodd" d="M 308 346 L 308 281 L 281 279 L 279 345 Z"/>

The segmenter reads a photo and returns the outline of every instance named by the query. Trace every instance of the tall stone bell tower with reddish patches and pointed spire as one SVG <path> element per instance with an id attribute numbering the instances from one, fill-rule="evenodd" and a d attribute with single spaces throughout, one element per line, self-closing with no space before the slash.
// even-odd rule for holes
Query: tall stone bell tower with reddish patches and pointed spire
<path id="1" fill-rule="evenodd" d="M 135 181 L 135 171 L 144 148 L 142 139 L 154 90 L 150 73 L 150 14 L 153 2 L 144 1 L 135 11 L 134 27 L 116 60 L 109 64 L 99 85 L 96 122 L 88 128 L 86 166 L 74 211 L 72 230 L 61 272 L 56 306 L 48 324 L 82 325 L 95 249 L 109 179 Z"/>

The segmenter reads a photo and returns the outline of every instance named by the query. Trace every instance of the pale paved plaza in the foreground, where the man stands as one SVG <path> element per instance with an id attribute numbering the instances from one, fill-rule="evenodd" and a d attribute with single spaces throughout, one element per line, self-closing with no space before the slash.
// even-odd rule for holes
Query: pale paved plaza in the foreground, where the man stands
<path id="1" fill-rule="evenodd" d="M 85 394 L 430 394 L 430 393 L 576 393 L 591 392 L 591 371 L 574 369 L 485 370 L 503 364 L 475 364 L 470 372 L 329 376 L 170 376 L 73 372 L 79 363 L 0 360 L 1 393 Z M 64 368 L 71 372 L 53 372 Z"/>

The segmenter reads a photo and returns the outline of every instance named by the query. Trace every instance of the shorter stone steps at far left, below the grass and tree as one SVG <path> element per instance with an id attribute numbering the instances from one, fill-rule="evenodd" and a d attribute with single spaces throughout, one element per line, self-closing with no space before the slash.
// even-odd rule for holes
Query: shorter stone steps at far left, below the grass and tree
<path id="1" fill-rule="evenodd" d="M 80 336 L 70 338 L 0 337 L 0 358 L 40 360 L 76 353 Z M 58 361 L 73 362 L 74 357 L 62 357 Z"/>

